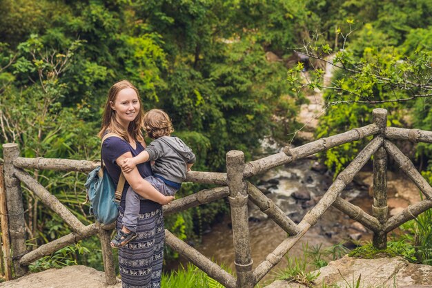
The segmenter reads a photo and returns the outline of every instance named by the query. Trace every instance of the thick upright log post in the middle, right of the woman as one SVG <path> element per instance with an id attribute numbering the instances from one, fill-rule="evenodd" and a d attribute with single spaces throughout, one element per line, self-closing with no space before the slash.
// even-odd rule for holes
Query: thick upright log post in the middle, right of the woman
<path id="1" fill-rule="evenodd" d="M 248 185 L 244 180 L 243 173 L 243 152 L 229 151 L 226 153 L 226 175 L 230 189 L 228 200 L 231 207 L 231 221 L 233 222 L 237 287 L 253 288 L 255 281 L 252 274 L 253 260 L 248 223 Z"/>

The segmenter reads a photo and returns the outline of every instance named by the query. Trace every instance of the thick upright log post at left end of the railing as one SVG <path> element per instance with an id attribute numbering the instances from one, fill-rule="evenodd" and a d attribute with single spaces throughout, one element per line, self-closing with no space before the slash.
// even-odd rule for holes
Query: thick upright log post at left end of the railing
<path id="1" fill-rule="evenodd" d="M 14 265 L 15 276 L 21 277 L 28 267 L 19 265 L 19 258 L 25 253 L 26 249 L 26 227 L 23 207 L 23 193 L 17 177 L 14 176 L 14 159 L 19 156 L 18 144 L 3 144 L 3 156 L 5 160 L 5 187 L 6 200 L 9 216 L 9 233 L 12 244 L 12 262 Z"/>

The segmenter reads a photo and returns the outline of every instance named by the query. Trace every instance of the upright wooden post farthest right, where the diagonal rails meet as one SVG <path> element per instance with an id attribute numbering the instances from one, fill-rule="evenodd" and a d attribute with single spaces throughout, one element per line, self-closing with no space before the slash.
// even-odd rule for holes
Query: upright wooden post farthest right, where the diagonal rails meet
<path id="1" fill-rule="evenodd" d="M 387 111 L 385 109 L 373 110 L 373 122 L 380 128 L 380 134 L 385 135 L 387 124 Z M 375 135 L 374 137 L 377 137 Z M 387 153 L 383 146 L 373 155 L 373 206 L 372 215 L 381 224 L 387 220 L 389 206 L 387 205 Z M 384 231 L 373 232 L 373 246 L 377 249 L 387 247 L 387 234 Z"/>

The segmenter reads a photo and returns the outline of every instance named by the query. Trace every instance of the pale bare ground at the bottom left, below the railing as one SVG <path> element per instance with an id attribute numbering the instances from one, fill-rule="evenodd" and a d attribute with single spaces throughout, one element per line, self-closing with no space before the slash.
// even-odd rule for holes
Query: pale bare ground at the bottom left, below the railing
<path id="1" fill-rule="evenodd" d="M 3 282 L 1 288 L 121 288 L 106 285 L 104 272 L 86 266 L 68 266 L 31 273 L 16 280 Z"/>

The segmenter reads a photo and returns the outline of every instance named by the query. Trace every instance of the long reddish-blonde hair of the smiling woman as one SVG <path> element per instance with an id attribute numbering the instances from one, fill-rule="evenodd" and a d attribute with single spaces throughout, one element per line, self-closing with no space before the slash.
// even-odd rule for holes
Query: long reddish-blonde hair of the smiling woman
<path id="1" fill-rule="evenodd" d="M 114 103 L 119 92 L 126 88 L 132 88 L 138 95 L 139 111 L 137 117 L 129 123 L 128 131 L 120 125 L 115 117 L 115 110 L 112 110 L 110 103 Z M 108 99 L 106 99 L 104 116 L 102 117 L 101 131 L 97 134 L 99 137 L 104 137 L 106 132 L 116 133 L 129 142 L 128 135 L 132 136 L 133 139 L 142 142 L 144 141 L 143 134 L 141 132 L 142 121 L 144 117 L 144 110 L 142 108 L 141 98 L 139 97 L 138 89 L 133 86 L 129 81 L 122 80 L 112 85 L 108 90 Z"/>

